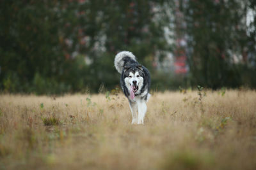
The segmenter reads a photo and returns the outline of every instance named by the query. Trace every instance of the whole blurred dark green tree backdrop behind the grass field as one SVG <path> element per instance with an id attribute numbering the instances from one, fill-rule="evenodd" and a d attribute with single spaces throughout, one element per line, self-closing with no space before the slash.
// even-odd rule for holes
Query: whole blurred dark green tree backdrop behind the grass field
<path id="1" fill-rule="evenodd" d="M 0 2 L 0 90 L 102 92 L 116 53 L 148 67 L 152 90 L 256 87 L 255 0 Z"/>

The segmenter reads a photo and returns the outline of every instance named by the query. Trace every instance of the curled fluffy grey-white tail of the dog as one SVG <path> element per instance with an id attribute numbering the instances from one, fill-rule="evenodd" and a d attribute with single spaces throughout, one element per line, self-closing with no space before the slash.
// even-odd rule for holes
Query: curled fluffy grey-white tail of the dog
<path id="1" fill-rule="evenodd" d="M 136 61 L 136 57 L 133 55 L 133 53 L 131 52 L 127 52 L 127 51 L 123 51 L 123 52 L 119 52 L 116 54 L 115 57 L 115 67 L 116 70 L 118 71 L 118 73 L 122 73 L 123 69 L 124 69 L 124 58 L 125 57 L 129 57 L 132 60 Z"/>

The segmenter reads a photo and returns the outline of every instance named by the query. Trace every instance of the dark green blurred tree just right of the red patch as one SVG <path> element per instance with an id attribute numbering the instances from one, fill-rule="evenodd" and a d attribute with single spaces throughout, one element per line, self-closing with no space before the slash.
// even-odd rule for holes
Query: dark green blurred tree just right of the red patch
<path id="1" fill-rule="evenodd" d="M 246 64 L 249 43 L 246 15 L 253 1 L 183 1 L 192 84 L 213 89 L 243 85 L 241 64 Z M 253 6 L 255 10 L 255 6 Z M 250 38 L 252 38 L 250 40 Z M 255 46 L 251 49 L 255 52 Z M 236 61 L 242 56 L 243 59 Z M 239 64 L 240 65 L 239 65 Z"/>

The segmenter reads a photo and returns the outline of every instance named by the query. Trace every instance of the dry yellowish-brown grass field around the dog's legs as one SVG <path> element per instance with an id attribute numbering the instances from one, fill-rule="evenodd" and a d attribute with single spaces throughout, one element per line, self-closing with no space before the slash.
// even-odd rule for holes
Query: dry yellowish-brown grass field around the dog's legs
<path id="1" fill-rule="evenodd" d="M 256 169 L 256 92 L 0 96 L 0 169 Z"/>

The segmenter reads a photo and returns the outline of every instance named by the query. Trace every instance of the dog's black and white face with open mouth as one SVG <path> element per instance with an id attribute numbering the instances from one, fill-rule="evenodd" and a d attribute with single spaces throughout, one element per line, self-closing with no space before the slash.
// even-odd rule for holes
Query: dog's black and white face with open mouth
<path id="1" fill-rule="evenodd" d="M 143 71 L 139 68 L 130 68 L 125 70 L 125 85 L 130 92 L 139 94 L 143 86 Z"/>

